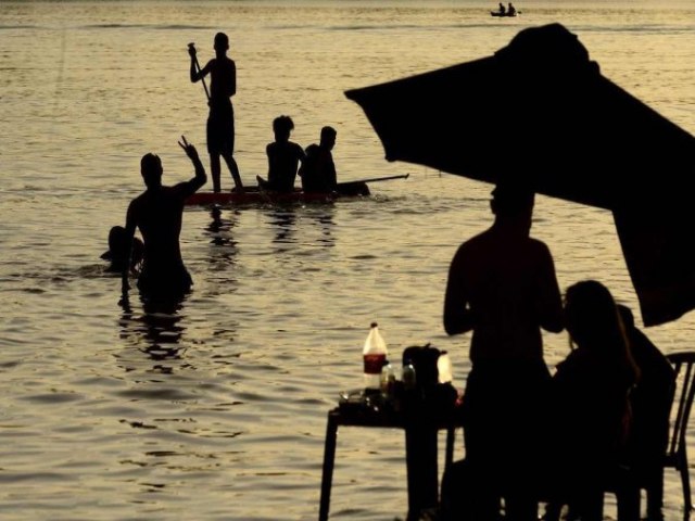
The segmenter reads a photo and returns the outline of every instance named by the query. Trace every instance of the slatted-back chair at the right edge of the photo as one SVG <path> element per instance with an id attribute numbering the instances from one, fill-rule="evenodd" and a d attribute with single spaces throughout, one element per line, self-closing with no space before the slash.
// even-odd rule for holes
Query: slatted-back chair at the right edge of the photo
<path id="1" fill-rule="evenodd" d="M 678 471 L 681 474 L 683 485 L 683 519 L 690 519 L 693 510 L 691 498 L 691 476 L 687 467 L 687 444 L 685 432 L 695 397 L 695 351 L 671 353 L 666 355 L 675 370 L 677 392 L 673 405 L 678 401 L 678 409 L 673 417 L 671 410 L 671 427 L 669 432 L 669 445 L 664 461 L 664 468 Z"/>

